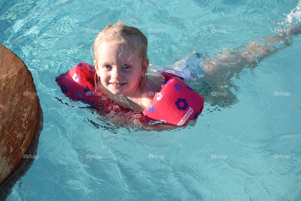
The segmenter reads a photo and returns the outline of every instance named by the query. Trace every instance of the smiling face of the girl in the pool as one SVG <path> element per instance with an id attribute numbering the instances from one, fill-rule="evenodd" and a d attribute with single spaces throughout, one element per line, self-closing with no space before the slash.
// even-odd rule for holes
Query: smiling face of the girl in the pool
<path id="1" fill-rule="evenodd" d="M 141 76 L 144 75 L 147 62 L 131 55 L 124 45 L 103 42 L 98 46 L 97 62 L 94 60 L 96 72 L 101 84 L 114 95 L 135 97 Z M 144 67 L 144 68 L 142 68 Z M 121 85 L 117 85 L 121 84 Z"/>

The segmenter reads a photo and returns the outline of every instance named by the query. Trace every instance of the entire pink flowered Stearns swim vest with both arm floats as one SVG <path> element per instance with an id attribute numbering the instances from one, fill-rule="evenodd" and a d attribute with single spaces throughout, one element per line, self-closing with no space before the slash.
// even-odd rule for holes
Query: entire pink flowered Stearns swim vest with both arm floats
<path id="1" fill-rule="evenodd" d="M 169 125 L 186 125 L 189 120 L 195 120 L 201 114 L 205 99 L 187 84 L 183 78 L 172 73 L 162 72 L 165 84 L 156 93 L 151 104 L 144 111 L 133 111 L 123 108 L 108 98 L 107 94 L 95 91 L 93 65 L 80 62 L 69 71 L 55 78 L 62 92 L 71 100 L 80 100 L 92 108 L 105 113 L 114 111 L 116 116 L 129 121 L 133 117 L 141 122 L 160 121 Z M 92 84 L 93 83 L 93 84 Z"/>

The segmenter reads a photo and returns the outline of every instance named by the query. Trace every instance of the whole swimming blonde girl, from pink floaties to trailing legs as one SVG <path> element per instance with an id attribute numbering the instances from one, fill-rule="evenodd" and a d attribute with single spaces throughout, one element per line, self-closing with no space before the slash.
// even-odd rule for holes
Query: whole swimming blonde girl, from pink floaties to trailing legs
<path id="1" fill-rule="evenodd" d="M 300 29 L 292 27 L 287 32 L 298 34 L 299 31 Z M 187 68 L 186 63 L 184 65 L 176 63 L 174 68 L 181 71 L 161 68 L 161 74 L 148 75 L 147 38 L 139 29 L 118 21 L 117 24 L 107 25 L 95 38 L 94 54 L 92 53 L 95 68 L 82 62 L 57 77 L 56 81 L 68 97 L 85 103 L 89 102 L 91 105 L 97 103 L 98 109 L 104 108 L 107 117 L 113 121 L 118 120 L 118 123 L 138 123 L 137 119 L 140 122 L 149 123 L 152 121 L 151 118 L 156 117 L 157 121 L 165 124 L 185 125 L 189 120 L 195 120 L 201 113 L 204 98 L 183 83 L 181 81 L 183 78 L 222 77 L 237 67 L 240 69 L 235 70 L 241 71 L 241 66 L 243 66 L 241 64 L 248 63 L 252 59 L 260 61 L 269 55 L 271 50 L 276 52 L 281 49 L 275 49 L 272 46 L 276 41 L 284 39 L 284 46 L 290 45 L 289 37 L 288 34 L 265 37 L 265 44 L 258 45 L 258 42 L 253 42 L 246 47 L 247 51 L 245 52 L 235 52 L 234 54 L 225 52 L 215 59 L 206 57 L 203 61 L 199 54 L 194 52 L 193 56 L 195 57 L 185 58 L 184 61 L 197 58 L 197 62 L 194 63 L 196 65 L 193 67 L 198 68 L 195 69 L 198 73 L 189 74 L 187 71 L 189 69 L 184 69 Z M 255 57 L 258 58 L 254 58 L 256 52 Z M 183 71 L 184 73 L 181 73 Z M 70 81 L 71 79 L 72 81 Z M 169 84 L 171 80 L 175 83 Z M 169 95 L 164 94 L 163 90 Z M 91 92 L 97 92 L 96 96 L 93 93 L 91 96 Z M 176 97 L 172 100 L 172 96 L 175 95 L 179 95 L 181 98 Z M 162 97 L 164 98 L 162 99 Z M 192 106 L 192 104 L 194 105 Z M 159 113 L 159 116 L 153 115 L 155 111 L 156 114 Z M 123 115 L 120 116 L 120 114 Z M 174 122 L 165 120 L 165 118 L 173 117 L 176 118 Z"/>

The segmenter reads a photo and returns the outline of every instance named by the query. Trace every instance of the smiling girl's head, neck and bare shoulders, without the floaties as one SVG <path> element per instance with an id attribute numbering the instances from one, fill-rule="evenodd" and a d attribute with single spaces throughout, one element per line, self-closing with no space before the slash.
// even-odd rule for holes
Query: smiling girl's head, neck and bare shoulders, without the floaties
<path id="1" fill-rule="evenodd" d="M 118 21 L 100 32 L 93 46 L 93 62 L 99 78 L 96 89 L 124 108 L 143 111 L 149 106 L 154 97 L 150 92 L 161 91 L 164 78 L 147 76 L 145 35 Z"/>

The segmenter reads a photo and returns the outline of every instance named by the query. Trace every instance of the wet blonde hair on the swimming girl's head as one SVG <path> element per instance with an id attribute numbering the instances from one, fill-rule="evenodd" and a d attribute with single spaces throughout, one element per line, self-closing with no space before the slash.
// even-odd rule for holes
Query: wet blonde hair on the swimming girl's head
<path id="1" fill-rule="evenodd" d="M 147 79 L 147 68 L 149 64 L 149 58 L 147 56 L 148 41 L 146 36 L 139 29 L 133 26 L 127 26 L 120 20 L 118 20 L 116 24 L 108 24 L 107 27 L 105 27 L 101 32 L 97 34 L 94 43 L 91 46 L 91 54 L 92 57 L 95 59 L 96 63 L 98 63 L 97 61 L 98 46 L 103 42 L 125 45 L 131 52 L 131 55 L 135 55 L 135 53 L 137 53 L 140 58 L 142 58 L 144 61 L 146 60 L 147 67 L 143 70 L 145 70 L 146 79 Z M 94 49 L 94 52 L 92 52 L 92 48 Z M 94 81 L 95 81 L 95 91 L 96 91 L 95 75 L 94 75 Z"/>

